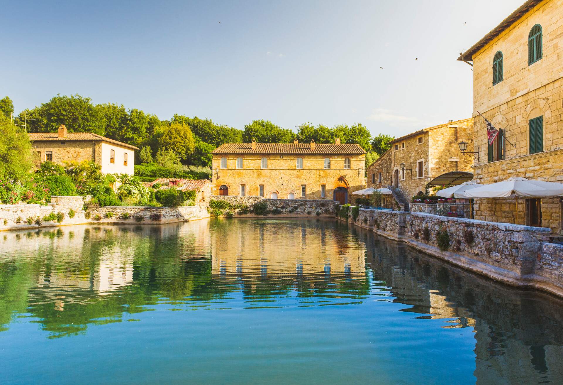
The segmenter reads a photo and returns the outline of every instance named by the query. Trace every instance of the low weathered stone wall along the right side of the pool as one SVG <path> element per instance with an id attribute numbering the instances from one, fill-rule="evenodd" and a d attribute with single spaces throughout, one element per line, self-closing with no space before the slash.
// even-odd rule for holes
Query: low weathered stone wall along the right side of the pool
<path id="1" fill-rule="evenodd" d="M 348 222 L 495 280 L 563 297 L 563 245 L 548 243 L 549 228 L 371 209 L 360 209 L 355 222 L 350 211 Z M 449 240 L 440 250 L 443 231 Z"/>

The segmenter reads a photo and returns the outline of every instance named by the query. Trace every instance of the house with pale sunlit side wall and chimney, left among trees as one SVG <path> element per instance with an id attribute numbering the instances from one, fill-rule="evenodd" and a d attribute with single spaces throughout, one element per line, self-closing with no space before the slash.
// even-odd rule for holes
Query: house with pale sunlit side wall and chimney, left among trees
<path id="1" fill-rule="evenodd" d="M 64 166 L 68 162 L 93 161 L 101 166 L 103 174 L 129 174 L 135 172 L 137 147 L 92 132 L 67 132 L 61 125 L 58 132 L 28 134 L 32 141 L 36 166 L 42 162 L 55 162 Z"/>

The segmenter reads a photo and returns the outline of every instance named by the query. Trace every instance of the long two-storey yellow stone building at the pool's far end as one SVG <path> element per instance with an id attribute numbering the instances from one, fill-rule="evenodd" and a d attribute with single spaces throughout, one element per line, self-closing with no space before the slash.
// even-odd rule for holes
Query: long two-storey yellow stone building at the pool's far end
<path id="1" fill-rule="evenodd" d="M 365 188 L 358 144 L 226 143 L 212 152 L 213 195 L 327 199 L 342 203 Z"/>

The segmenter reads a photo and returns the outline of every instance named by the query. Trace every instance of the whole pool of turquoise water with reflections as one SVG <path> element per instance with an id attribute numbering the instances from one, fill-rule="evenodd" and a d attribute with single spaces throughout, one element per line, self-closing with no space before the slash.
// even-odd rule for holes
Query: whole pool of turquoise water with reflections
<path id="1" fill-rule="evenodd" d="M 7 384 L 560 384 L 562 310 L 333 219 L 0 233 Z"/>

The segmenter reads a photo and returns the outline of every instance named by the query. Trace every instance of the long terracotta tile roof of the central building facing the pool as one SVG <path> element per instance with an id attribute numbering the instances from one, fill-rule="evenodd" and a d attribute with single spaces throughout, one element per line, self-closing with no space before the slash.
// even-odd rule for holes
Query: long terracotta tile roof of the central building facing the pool
<path id="1" fill-rule="evenodd" d="M 225 143 L 212 151 L 212 154 L 365 154 L 359 144 L 315 143 L 311 150 L 309 143 Z"/>

